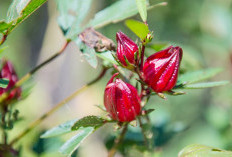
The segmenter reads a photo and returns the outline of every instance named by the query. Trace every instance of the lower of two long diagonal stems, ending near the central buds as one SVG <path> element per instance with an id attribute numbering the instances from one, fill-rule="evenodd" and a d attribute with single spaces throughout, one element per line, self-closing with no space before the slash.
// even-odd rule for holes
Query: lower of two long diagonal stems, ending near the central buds
<path id="1" fill-rule="evenodd" d="M 32 129 L 34 129 L 37 125 L 39 125 L 44 119 L 46 119 L 47 117 L 49 117 L 51 114 L 53 114 L 55 111 L 57 111 L 64 104 L 66 104 L 67 102 L 69 102 L 70 100 L 72 100 L 73 98 L 75 98 L 77 95 L 79 95 L 80 93 L 82 93 L 83 91 L 85 91 L 92 84 L 94 84 L 97 81 L 99 81 L 105 75 L 105 73 L 106 73 L 107 70 L 108 70 L 107 68 L 104 68 L 102 70 L 102 72 L 100 73 L 100 75 L 96 79 L 94 79 L 93 81 L 91 81 L 88 84 L 86 84 L 86 85 L 82 86 L 81 88 L 79 88 L 73 94 L 71 94 L 70 96 L 68 96 L 67 98 L 65 98 L 61 102 L 59 102 L 58 104 L 56 104 L 48 112 L 46 112 L 41 117 L 39 117 L 37 120 L 35 120 L 34 122 L 32 122 L 23 132 L 21 132 L 15 139 L 13 139 L 11 141 L 10 145 L 13 145 L 19 139 L 21 139 L 22 137 L 24 137 L 27 133 L 29 133 Z"/>

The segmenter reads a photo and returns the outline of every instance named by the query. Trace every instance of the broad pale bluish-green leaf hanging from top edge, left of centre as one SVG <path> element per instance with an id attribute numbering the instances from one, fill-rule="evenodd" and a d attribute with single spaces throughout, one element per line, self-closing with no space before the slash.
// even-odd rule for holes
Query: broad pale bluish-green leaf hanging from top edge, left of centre
<path id="1" fill-rule="evenodd" d="M 58 24 L 66 37 L 79 34 L 83 30 L 81 24 L 89 13 L 92 0 L 56 0 L 56 3 L 59 11 Z"/>

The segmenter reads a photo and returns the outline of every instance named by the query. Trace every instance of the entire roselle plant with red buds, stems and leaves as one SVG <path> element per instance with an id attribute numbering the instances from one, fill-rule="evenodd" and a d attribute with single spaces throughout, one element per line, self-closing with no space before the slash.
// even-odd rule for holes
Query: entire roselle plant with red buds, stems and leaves
<path id="1" fill-rule="evenodd" d="M 2 45 L 18 24 L 22 23 L 46 2 L 47 0 L 12 2 L 6 20 L 0 21 L 0 51 L 4 50 Z M 155 97 L 155 99 L 165 101 L 165 99 L 168 99 L 167 95 L 186 94 L 186 89 L 209 88 L 228 84 L 228 81 L 201 82 L 219 73 L 220 69 L 182 71 L 181 63 L 185 57 L 185 50 L 179 45 L 159 45 L 158 50 L 152 48 L 152 40 L 156 38 L 156 31 L 149 27 L 147 11 L 165 6 L 167 5 L 166 2 L 150 5 L 145 0 L 118 0 L 96 13 L 87 24 L 83 21 L 90 10 L 92 0 L 56 0 L 55 2 L 60 13 L 58 24 L 66 37 L 63 48 L 20 79 L 13 64 L 9 60 L 1 58 L 0 124 L 2 138 L 0 141 L 0 157 L 25 156 L 20 154 L 20 149 L 15 144 L 64 104 L 105 77 L 106 73 L 111 74 L 111 77 L 108 78 L 108 83 L 105 82 L 104 96 L 102 95 L 104 104 L 99 106 L 105 116 L 89 115 L 81 119 L 67 121 L 47 130 L 40 136 L 41 140 L 77 132 L 59 149 L 62 154 L 72 156 L 77 153 L 78 147 L 88 136 L 100 128 L 104 131 L 104 126 L 111 125 L 114 126 L 112 131 L 115 134 L 109 135 L 109 138 L 105 141 L 108 157 L 115 156 L 117 152 L 128 156 L 132 147 L 133 149 L 136 148 L 137 153 L 139 152 L 138 154 L 132 154 L 132 156 L 161 156 L 159 154 L 160 149 L 156 148 L 159 146 L 157 139 L 171 138 L 174 131 L 162 132 L 162 135 L 160 133 L 162 129 L 157 129 L 158 126 L 154 126 L 150 115 L 151 113 L 155 114 L 156 106 L 147 107 L 149 99 Z M 78 8 L 74 6 L 78 6 Z M 70 12 L 73 12 L 75 16 Z M 115 39 L 109 39 L 97 30 L 109 23 L 130 18 L 137 13 L 140 14 L 142 21 L 132 19 L 125 21 L 126 26 L 138 37 L 137 39 L 120 30 L 114 32 Z M 67 20 L 73 18 L 74 20 Z M 9 140 L 8 133 L 14 129 L 15 123 L 19 120 L 19 111 L 15 109 L 15 103 L 26 98 L 23 96 L 26 92 L 22 88 L 24 83 L 41 68 L 63 54 L 71 42 L 78 46 L 86 61 L 93 68 L 99 66 L 102 71 L 91 82 L 61 100 L 48 112 L 41 114 L 40 118 L 25 126 L 24 131 L 19 132 L 16 137 Z M 101 61 L 98 63 L 99 60 Z M 179 97 L 175 98 L 178 99 Z M 139 131 L 133 132 L 133 129 L 136 128 L 139 128 Z M 182 130 L 184 128 L 180 129 L 180 131 Z M 160 134 L 157 134 L 157 132 Z M 132 136 L 134 138 L 130 138 Z M 139 139 L 141 136 L 142 139 Z M 217 157 L 232 156 L 232 153 L 203 145 L 192 145 L 184 148 L 178 156 L 206 157 L 215 155 Z M 177 156 L 177 154 L 173 156 Z"/>

